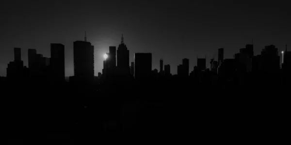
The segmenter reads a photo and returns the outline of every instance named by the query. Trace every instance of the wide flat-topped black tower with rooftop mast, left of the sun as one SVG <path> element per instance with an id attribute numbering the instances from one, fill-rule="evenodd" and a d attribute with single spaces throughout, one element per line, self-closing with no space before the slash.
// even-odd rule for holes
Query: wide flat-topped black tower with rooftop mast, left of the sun
<path id="1" fill-rule="evenodd" d="M 74 42 L 74 76 L 78 82 L 94 80 L 94 46 L 90 42 Z"/>

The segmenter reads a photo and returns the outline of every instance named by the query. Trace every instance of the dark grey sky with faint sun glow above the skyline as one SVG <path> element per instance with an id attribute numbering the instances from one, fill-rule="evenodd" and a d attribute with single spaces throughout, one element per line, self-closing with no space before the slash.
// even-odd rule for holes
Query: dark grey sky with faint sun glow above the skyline
<path id="1" fill-rule="evenodd" d="M 1 0 L 0 76 L 14 60 L 14 47 L 22 48 L 28 65 L 27 50 L 50 57 L 50 43 L 65 45 L 65 75 L 73 75 L 73 42 L 83 40 L 85 30 L 95 46 L 95 75 L 122 33 L 130 61 L 134 53 L 151 52 L 153 69 L 163 58 L 174 74 L 182 58 L 190 59 L 192 71 L 196 55 L 207 55 L 208 64 L 223 47 L 225 58 L 233 58 L 252 39 L 255 55 L 269 44 L 283 50 L 291 46 L 291 8 L 285 1 Z"/>

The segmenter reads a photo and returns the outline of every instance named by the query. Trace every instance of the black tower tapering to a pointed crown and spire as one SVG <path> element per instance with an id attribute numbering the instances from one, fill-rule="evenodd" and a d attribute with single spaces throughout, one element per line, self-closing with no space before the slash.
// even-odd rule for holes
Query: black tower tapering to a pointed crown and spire
<path id="1" fill-rule="evenodd" d="M 117 49 L 117 69 L 118 73 L 121 75 L 129 74 L 129 50 L 124 43 L 123 35 L 121 37 L 121 43 L 118 45 Z"/>

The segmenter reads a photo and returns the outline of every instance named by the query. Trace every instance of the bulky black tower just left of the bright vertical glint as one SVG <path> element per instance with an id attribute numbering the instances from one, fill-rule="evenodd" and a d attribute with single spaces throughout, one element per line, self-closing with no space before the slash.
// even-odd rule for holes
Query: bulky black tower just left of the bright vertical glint
<path id="1" fill-rule="evenodd" d="M 260 70 L 268 73 L 275 73 L 280 69 L 280 56 L 275 45 L 265 46 L 261 51 Z"/>

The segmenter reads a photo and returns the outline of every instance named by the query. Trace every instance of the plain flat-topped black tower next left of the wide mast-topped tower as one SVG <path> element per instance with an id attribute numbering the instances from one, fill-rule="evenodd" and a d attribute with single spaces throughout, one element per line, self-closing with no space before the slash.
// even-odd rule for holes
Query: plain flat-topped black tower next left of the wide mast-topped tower
<path id="1" fill-rule="evenodd" d="M 52 77 L 55 81 L 65 80 L 65 45 L 60 43 L 50 44 L 50 66 Z"/>

